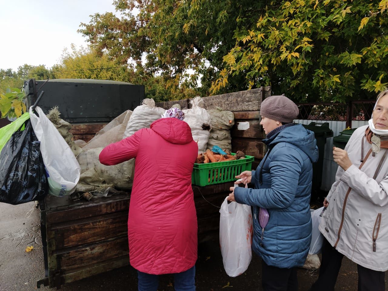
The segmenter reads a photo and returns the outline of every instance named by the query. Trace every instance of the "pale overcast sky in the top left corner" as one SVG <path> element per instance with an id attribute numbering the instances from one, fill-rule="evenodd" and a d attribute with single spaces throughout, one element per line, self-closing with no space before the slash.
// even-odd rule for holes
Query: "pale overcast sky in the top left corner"
<path id="1" fill-rule="evenodd" d="M 0 0 L 0 68 L 51 67 L 62 51 L 84 45 L 77 29 L 89 15 L 114 12 L 113 0 Z M 119 15 L 119 14 L 117 14 Z"/>

